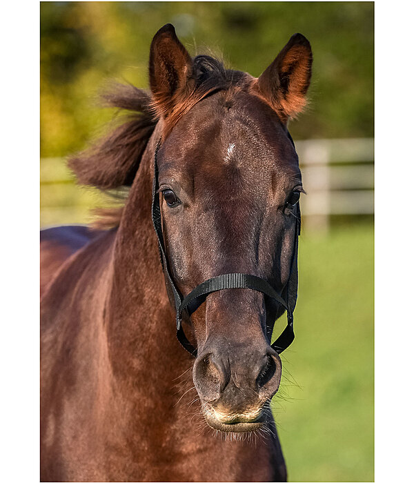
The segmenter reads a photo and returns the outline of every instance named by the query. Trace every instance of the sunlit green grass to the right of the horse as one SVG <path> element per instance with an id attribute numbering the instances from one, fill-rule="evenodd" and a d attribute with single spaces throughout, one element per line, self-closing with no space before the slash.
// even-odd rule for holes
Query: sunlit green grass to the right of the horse
<path id="1" fill-rule="evenodd" d="M 304 230 L 295 334 L 273 400 L 289 481 L 372 482 L 372 225 Z"/>

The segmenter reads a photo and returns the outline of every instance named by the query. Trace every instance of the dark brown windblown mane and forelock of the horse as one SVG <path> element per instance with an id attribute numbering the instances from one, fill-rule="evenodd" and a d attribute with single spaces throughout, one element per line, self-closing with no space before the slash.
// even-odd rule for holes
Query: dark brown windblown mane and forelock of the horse
<path id="1" fill-rule="evenodd" d="M 122 199 L 128 197 L 128 188 L 135 178 L 139 162 L 159 119 L 164 119 L 163 137 L 195 104 L 219 90 L 230 91 L 246 79 L 244 72 L 227 70 L 224 64 L 208 55 L 193 60 L 190 77 L 193 91 L 181 92 L 175 98 L 175 108 L 167 115 L 162 101 L 155 101 L 150 92 L 132 85 L 116 83 L 101 95 L 104 107 L 128 111 L 121 116 L 121 124 L 112 128 L 95 144 L 68 159 L 69 168 L 79 184 L 95 186 L 111 194 L 122 188 Z M 124 206 L 97 208 L 91 227 L 99 230 L 119 226 Z"/>

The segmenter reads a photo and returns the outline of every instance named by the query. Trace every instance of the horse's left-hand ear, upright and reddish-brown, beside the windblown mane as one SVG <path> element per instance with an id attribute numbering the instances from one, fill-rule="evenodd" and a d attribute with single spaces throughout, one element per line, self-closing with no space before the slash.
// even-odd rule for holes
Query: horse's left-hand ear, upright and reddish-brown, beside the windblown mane
<path id="1" fill-rule="evenodd" d="M 159 116 L 168 117 L 180 98 L 190 95 L 193 60 L 167 23 L 152 39 L 150 88 Z"/>

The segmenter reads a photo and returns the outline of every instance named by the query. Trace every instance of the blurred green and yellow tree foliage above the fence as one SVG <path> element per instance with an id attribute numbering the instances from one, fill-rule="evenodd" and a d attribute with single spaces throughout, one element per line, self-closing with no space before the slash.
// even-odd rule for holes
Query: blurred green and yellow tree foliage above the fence
<path id="1" fill-rule="evenodd" d="M 43 2 L 41 156 L 83 148 L 110 119 L 95 102 L 108 79 L 148 86 L 150 41 L 168 22 L 192 55 L 255 76 L 304 34 L 313 82 L 293 136 L 373 135 L 373 2 Z"/>

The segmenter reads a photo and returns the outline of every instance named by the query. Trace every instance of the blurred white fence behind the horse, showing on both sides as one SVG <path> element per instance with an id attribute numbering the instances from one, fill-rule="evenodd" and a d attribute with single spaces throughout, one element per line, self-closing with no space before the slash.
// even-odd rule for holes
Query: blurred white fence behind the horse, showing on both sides
<path id="1" fill-rule="evenodd" d="M 374 140 L 310 139 L 295 142 L 307 195 L 306 228 L 328 228 L 331 215 L 374 212 Z M 92 197 L 77 190 L 63 159 L 41 160 L 43 224 L 84 221 Z"/>

